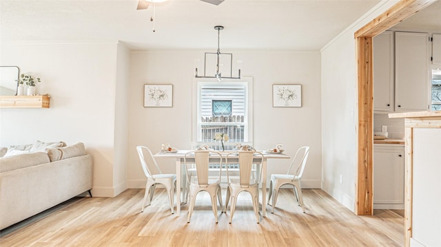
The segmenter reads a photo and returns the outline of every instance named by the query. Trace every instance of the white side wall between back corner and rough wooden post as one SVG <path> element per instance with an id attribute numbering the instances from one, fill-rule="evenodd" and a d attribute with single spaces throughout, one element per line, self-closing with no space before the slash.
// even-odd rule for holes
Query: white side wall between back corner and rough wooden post
<path id="1" fill-rule="evenodd" d="M 321 50 L 322 189 L 352 211 L 358 149 L 356 43 L 353 34 L 395 3 L 380 2 Z"/>

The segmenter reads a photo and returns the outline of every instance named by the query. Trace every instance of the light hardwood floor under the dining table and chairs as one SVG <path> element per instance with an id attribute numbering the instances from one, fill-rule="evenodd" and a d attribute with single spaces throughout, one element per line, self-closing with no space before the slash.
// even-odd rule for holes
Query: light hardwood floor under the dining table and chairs
<path id="1" fill-rule="evenodd" d="M 170 212 L 164 189 L 140 213 L 143 189 L 120 195 L 77 197 L 37 216 L 32 222 L 1 231 L 0 246 L 403 246 L 404 218 L 389 210 L 357 216 L 320 189 L 304 189 L 306 213 L 291 189 L 280 191 L 276 211 L 256 224 L 251 197 L 240 193 L 232 224 L 229 210 L 214 215 L 207 193 L 196 200 L 191 222 L 187 206 Z M 223 191 L 225 200 L 225 189 Z"/>

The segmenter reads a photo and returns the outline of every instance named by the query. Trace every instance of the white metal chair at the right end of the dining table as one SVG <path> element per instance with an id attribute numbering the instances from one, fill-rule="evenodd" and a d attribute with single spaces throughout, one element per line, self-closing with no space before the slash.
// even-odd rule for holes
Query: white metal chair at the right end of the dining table
<path id="1" fill-rule="evenodd" d="M 289 166 L 289 169 L 286 174 L 271 174 L 271 182 L 269 183 L 269 193 L 268 193 L 268 204 L 269 204 L 269 199 L 271 199 L 271 195 L 273 197 L 271 213 L 274 213 L 274 207 L 276 206 L 276 202 L 277 202 L 278 190 L 280 189 L 280 186 L 284 184 L 290 184 L 291 186 L 293 186 L 293 191 L 294 191 L 294 195 L 296 196 L 296 200 L 299 206 L 302 207 L 303 213 L 305 213 L 305 204 L 303 204 L 303 198 L 302 198 L 301 179 L 302 179 L 303 171 L 305 170 L 308 155 L 309 155 L 309 147 L 300 147 L 300 149 L 297 150 L 296 155 L 294 155 L 294 158 L 291 161 L 291 165 Z"/>

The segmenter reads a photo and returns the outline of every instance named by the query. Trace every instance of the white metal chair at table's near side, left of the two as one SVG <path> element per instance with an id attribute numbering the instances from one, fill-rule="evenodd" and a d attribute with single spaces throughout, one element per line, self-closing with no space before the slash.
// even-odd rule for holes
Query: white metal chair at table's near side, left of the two
<path id="1" fill-rule="evenodd" d="M 193 162 L 187 162 L 190 158 L 194 158 Z M 209 178 L 209 161 L 210 159 L 216 159 L 216 163 L 219 164 L 218 177 Z M 216 200 L 219 201 L 220 211 L 223 213 L 222 205 L 222 193 L 220 189 L 220 176 L 222 175 L 222 155 L 217 151 L 189 151 L 184 155 L 184 164 L 187 172 L 187 183 L 189 187 L 189 206 L 187 222 L 190 222 L 190 218 L 193 214 L 194 203 L 196 201 L 196 195 L 200 191 L 207 191 L 212 200 L 212 209 L 216 223 L 218 223 L 218 205 Z M 189 171 L 189 169 L 196 168 L 196 172 Z"/>

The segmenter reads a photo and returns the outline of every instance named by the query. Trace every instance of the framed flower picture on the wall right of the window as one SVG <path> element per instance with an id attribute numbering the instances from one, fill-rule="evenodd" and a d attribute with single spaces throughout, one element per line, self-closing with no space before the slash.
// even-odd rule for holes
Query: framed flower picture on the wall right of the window
<path id="1" fill-rule="evenodd" d="M 273 107 L 302 107 L 302 85 L 273 84 Z"/>

